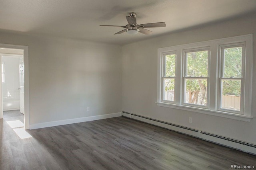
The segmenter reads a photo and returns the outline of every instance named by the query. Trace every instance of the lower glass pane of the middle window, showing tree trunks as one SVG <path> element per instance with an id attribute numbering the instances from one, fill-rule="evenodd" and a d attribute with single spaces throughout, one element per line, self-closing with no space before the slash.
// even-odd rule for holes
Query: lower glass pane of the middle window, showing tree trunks
<path id="1" fill-rule="evenodd" d="M 185 79 L 185 103 L 204 105 L 207 104 L 207 79 Z"/>

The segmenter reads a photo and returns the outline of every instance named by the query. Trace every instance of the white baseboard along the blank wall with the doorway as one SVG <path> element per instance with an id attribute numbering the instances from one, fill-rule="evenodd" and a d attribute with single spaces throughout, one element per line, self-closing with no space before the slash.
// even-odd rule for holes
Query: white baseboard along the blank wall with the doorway
<path id="1" fill-rule="evenodd" d="M 45 123 L 30 124 L 29 129 L 39 129 L 39 128 L 44 128 L 44 127 L 67 125 L 67 124 L 72 124 L 72 123 L 80 123 L 80 122 L 86 122 L 86 121 L 108 119 L 108 118 L 120 117 L 120 116 L 121 116 L 121 112 L 118 112 L 118 113 L 110 113 L 110 114 L 105 114 L 105 115 L 80 117 L 80 118 L 76 118 L 76 119 L 50 121 L 50 122 L 45 122 Z"/>

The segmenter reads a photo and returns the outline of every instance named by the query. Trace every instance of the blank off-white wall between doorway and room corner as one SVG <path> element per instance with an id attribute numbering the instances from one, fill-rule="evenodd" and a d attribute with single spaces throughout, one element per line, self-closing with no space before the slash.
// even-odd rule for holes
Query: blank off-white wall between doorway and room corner
<path id="1" fill-rule="evenodd" d="M 29 47 L 31 125 L 122 111 L 121 46 L 3 31 L 0 43 Z"/>

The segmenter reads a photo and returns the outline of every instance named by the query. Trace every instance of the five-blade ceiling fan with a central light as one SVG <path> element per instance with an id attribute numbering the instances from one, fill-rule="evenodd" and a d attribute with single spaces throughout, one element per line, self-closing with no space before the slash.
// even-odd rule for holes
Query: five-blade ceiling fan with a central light
<path id="1" fill-rule="evenodd" d="M 143 34 L 151 34 L 153 33 L 152 31 L 144 28 L 153 28 L 153 27 L 165 27 L 166 24 L 164 22 L 155 22 L 155 23 L 144 23 L 144 24 L 137 24 L 136 20 L 136 13 L 135 12 L 130 12 L 129 16 L 126 16 L 126 20 L 128 21 L 128 24 L 125 26 L 119 26 L 119 25 L 100 25 L 100 26 L 109 26 L 109 27 L 122 27 L 124 28 L 122 31 L 119 31 L 116 34 L 121 34 L 124 32 L 127 32 L 128 34 L 136 34 L 138 32 L 143 33 Z"/>

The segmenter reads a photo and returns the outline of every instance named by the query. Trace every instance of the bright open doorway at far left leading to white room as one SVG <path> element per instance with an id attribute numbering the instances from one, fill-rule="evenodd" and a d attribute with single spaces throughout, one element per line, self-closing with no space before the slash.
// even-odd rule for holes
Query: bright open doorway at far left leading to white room
<path id="1" fill-rule="evenodd" d="M 3 118 L 20 117 L 24 123 L 23 50 L 4 51 L 5 54 L 0 53 Z M 3 50 L 0 49 L 0 52 Z"/>

